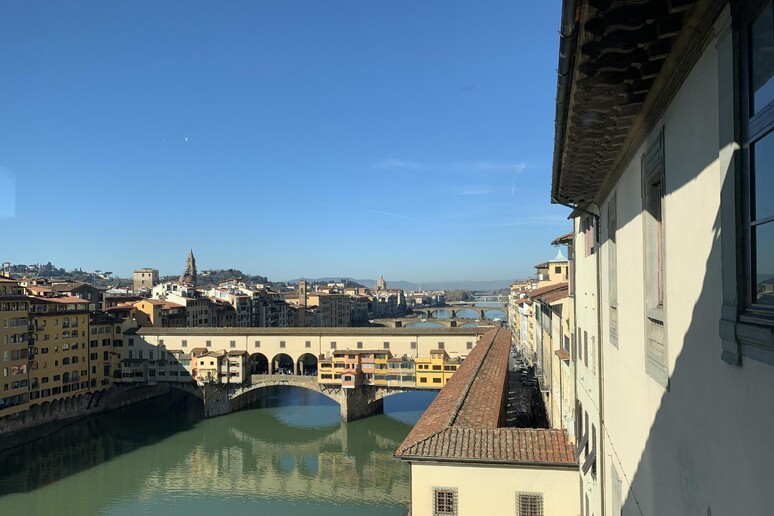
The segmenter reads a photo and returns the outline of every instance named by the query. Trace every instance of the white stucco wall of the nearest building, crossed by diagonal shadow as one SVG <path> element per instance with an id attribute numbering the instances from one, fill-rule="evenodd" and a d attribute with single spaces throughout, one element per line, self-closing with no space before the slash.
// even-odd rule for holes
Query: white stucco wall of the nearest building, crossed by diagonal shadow
<path id="1" fill-rule="evenodd" d="M 616 489 L 612 467 L 621 480 L 623 514 L 771 514 L 774 507 L 767 480 L 774 464 L 774 368 L 720 359 L 718 106 L 733 99 L 719 98 L 718 55 L 710 42 L 615 187 L 618 348 L 607 338 L 604 246 L 600 271 L 608 514 Z M 662 127 L 669 390 L 646 373 L 644 351 L 640 156 Z"/>

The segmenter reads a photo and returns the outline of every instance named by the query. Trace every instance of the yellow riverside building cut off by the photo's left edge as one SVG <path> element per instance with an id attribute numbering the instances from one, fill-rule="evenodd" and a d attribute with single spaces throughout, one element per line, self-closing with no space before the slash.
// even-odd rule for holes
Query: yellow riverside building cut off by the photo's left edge
<path id="1" fill-rule="evenodd" d="M 0 416 L 29 405 L 29 301 L 18 281 L 0 276 Z"/>

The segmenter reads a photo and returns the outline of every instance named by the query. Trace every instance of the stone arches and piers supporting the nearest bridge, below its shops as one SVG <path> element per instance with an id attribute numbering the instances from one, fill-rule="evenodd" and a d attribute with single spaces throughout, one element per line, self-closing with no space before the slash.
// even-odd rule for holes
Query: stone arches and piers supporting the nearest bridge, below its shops
<path id="1" fill-rule="evenodd" d="M 411 387 L 376 387 L 360 385 L 354 389 L 344 389 L 340 385 L 324 385 L 317 381 L 317 376 L 258 374 L 251 376 L 249 385 L 236 384 L 205 384 L 204 416 L 215 417 L 243 409 L 252 404 L 260 390 L 266 387 L 287 386 L 300 387 L 319 392 L 332 399 L 341 407 L 342 421 L 354 421 L 373 414 L 381 414 L 384 410 L 383 400 L 386 396 L 416 390 Z"/>

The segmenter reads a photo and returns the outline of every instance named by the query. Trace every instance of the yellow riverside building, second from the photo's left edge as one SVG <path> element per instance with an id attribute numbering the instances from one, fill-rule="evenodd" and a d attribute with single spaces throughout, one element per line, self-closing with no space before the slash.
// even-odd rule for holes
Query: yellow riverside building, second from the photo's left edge
<path id="1" fill-rule="evenodd" d="M 89 392 L 89 310 L 78 297 L 30 300 L 35 355 L 30 368 L 30 400 L 51 402 Z"/>

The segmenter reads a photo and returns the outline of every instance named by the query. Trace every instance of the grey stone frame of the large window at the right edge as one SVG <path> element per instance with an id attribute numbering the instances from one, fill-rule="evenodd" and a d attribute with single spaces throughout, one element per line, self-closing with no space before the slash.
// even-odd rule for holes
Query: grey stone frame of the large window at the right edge
<path id="1" fill-rule="evenodd" d="M 752 305 L 749 143 L 770 134 L 774 105 L 748 116 L 746 27 L 770 0 L 726 7 L 715 22 L 718 55 L 720 234 L 723 305 L 721 359 L 742 366 L 743 358 L 774 366 L 774 314 Z M 753 133 L 750 138 L 750 133 Z M 742 242 L 742 245 L 739 243 Z"/>

